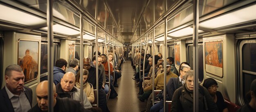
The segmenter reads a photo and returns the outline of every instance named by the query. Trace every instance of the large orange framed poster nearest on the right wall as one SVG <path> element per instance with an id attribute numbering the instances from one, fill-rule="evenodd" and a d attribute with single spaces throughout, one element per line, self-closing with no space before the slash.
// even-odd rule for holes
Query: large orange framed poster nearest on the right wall
<path id="1" fill-rule="evenodd" d="M 205 70 L 206 72 L 222 77 L 223 56 L 222 41 L 206 42 L 205 46 Z"/>

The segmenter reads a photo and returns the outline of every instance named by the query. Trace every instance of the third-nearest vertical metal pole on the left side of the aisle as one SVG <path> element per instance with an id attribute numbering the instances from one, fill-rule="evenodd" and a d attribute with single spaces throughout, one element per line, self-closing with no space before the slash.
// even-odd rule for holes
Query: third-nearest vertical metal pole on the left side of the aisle
<path id="1" fill-rule="evenodd" d="M 99 65 L 98 65 L 98 25 L 96 25 L 95 27 L 95 36 L 96 36 L 96 43 L 95 43 L 95 47 L 96 47 L 96 52 L 95 52 L 95 59 L 96 59 L 96 89 L 97 89 L 97 107 L 99 107 Z"/>

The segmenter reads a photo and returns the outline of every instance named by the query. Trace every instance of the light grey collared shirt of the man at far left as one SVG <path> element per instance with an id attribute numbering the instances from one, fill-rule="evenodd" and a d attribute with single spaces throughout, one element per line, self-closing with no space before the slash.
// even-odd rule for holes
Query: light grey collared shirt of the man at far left
<path id="1" fill-rule="evenodd" d="M 27 96 L 25 94 L 25 88 L 23 88 L 23 90 L 20 92 L 20 95 L 12 94 L 6 87 L 6 85 L 5 90 L 9 99 L 11 100 L 14 112 L 28 112 L 31 109 L 29 99 L 27 99 Z"/>

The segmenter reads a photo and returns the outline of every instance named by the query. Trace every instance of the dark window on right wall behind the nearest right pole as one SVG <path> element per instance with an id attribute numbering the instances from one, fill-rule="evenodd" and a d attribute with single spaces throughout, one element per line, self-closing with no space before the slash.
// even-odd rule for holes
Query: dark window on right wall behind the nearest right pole
<path id="1" fill-rule="evenodd" d="M 188 63 L 191 67 L 191 69 L 193 69 L 193 45 L 188 45 L 187 47 L 187 51 L 188 51 Z M 198 53 L 199 53 L 199 56 L 198 56 L 198 70 L 199 70 L 199 81 L 203 81 L 204 79 L 204 63 L 203 63 L 203 45 L 200 44 L 198 45 Z"/>

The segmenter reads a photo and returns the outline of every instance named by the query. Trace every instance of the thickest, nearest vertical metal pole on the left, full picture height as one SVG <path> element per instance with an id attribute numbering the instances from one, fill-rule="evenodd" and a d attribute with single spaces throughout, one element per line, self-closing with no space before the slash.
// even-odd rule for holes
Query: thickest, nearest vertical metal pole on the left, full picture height
<path id="1" fill-rule="evenodd" d="M 52 3 L 53 0 L 47 0 L 47 39 L 48 39 L 48 45 L 47 45 L 47 69 L 48 69 L 48 101 L 49 101 L 49 106 L 48 106 L 48 112 L 53 112 L 53 61 L 54 61 L 54 47 L 53 47 L 53 13 L 52 13 Z"/>

